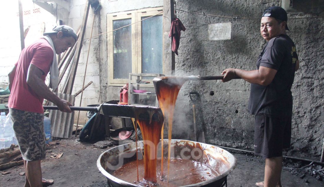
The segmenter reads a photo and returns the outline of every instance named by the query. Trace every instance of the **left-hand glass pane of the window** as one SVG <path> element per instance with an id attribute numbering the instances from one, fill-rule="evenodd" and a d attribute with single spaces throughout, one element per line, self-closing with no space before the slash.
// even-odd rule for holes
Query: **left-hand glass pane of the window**
<path id="1" fill-rule="evenodd" d="M 132 23 L 132 19 L 113 21 L 113 30 Z M 132 25 L 113 31 L 114 79 L 128 79 L 132 73 Z"/>

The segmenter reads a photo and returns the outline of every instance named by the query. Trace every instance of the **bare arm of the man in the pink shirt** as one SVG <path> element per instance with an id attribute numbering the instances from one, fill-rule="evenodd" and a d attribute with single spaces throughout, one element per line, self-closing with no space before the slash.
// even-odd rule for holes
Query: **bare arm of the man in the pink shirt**
<path id="1" fill-rule="evenodd" d="M 45 82 L 41 79 L 43 71 L 36 66 L 30 64 L 27 73 L 27 84 L 40 97 L 54 103 L 62 112 L 72 112 L 69 106 L 71 103 L 60 99 L 47 87 Z"/>

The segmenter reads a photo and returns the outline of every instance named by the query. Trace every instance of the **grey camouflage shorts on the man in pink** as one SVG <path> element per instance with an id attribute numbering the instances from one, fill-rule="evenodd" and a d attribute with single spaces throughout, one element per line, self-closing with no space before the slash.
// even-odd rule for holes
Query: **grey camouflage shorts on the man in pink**
<path id="1" fill-rule="evenodd" d="M 26 161 L 44 159 L 44 115 L 14 108 L 9 108 L 9 112 L 22 158 Z"/>

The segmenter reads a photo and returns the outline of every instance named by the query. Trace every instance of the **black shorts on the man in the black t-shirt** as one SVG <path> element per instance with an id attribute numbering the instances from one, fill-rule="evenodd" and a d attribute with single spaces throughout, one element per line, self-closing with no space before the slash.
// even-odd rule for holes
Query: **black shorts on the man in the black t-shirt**
<path id="1" fill-rule="evenodd" d="M 255 116 L 254 154 L 264 158 L 282 156 L 283 149 L 290 147 L 291 116 Z"/>

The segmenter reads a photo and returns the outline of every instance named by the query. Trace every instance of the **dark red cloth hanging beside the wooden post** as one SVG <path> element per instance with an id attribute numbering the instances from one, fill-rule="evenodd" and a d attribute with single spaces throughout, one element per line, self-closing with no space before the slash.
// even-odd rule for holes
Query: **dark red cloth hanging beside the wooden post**
<path id="1" fill-rule="evenodd" d="M 172 39 L 172 51 L 178 55 L 178 48 L 180 44 L 181 31 L 185 31 L 186 28 L 183 26 L 180 19 L 176 18 L 171 23 L 169 37 Z"/>

